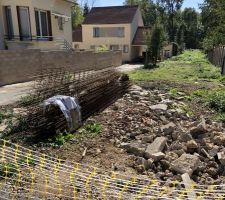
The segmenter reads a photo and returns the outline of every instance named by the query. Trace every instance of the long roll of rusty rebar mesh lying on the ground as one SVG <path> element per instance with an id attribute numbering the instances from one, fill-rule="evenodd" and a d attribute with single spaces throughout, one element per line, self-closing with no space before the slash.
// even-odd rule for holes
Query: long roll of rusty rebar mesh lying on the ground
<path id="1" fill-rule="evenodd" d="M 28 124 L 35 132 L 55 134 L 66 130 L 67 122 L 58 107 L 43 112 L 43 102 L 56 95 L 76 97 L 81 106 L 82 120 L 106 108 L 129 88 L 126 75 L 115 69 L 73 72 L 69 69 L 51 69 L 37 76 L 35 92 L 26 105 Z"/>

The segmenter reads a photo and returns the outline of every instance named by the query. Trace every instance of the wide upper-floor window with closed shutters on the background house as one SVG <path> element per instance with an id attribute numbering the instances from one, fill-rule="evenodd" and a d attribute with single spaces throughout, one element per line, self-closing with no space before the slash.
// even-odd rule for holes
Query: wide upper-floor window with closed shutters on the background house
<path id="1" fill-rule="evenodd" d="M 124 37 L 124 27 L 94 27 L 93 37 Z"/>

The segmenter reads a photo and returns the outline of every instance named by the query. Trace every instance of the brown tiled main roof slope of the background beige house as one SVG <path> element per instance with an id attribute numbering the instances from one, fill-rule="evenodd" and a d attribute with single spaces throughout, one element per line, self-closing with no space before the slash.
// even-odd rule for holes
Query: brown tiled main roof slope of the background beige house
<path id="1" fill-rule="evenodd" d="M 138 6 L 94 7 L 83 24 L 129 24 L 137 9 Z"/>

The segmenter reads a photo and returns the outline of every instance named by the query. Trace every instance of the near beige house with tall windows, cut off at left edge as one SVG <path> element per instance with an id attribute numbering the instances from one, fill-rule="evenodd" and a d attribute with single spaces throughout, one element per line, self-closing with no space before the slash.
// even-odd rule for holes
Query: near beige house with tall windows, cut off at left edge
<path id="1" fill-rule="evenodd" d="M 0 49 L 72 45 L 73 0 L 0 0 Z"/>

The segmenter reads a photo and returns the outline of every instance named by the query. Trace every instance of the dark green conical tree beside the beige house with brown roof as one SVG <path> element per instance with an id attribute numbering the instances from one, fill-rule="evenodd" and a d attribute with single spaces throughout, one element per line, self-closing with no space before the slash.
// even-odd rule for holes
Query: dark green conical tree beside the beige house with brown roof
<path id="1" fill-rule="evenodd" d="M 148 66 L 149 60 L 152 65 L 157 64 L 157 60 L 160 58 L 161 50 L 166 40 L 165 31 L 163 25 L 159 21 L 156 22 L 151 32 L 146 33 L 147 52 L 145 66 Z"/>

